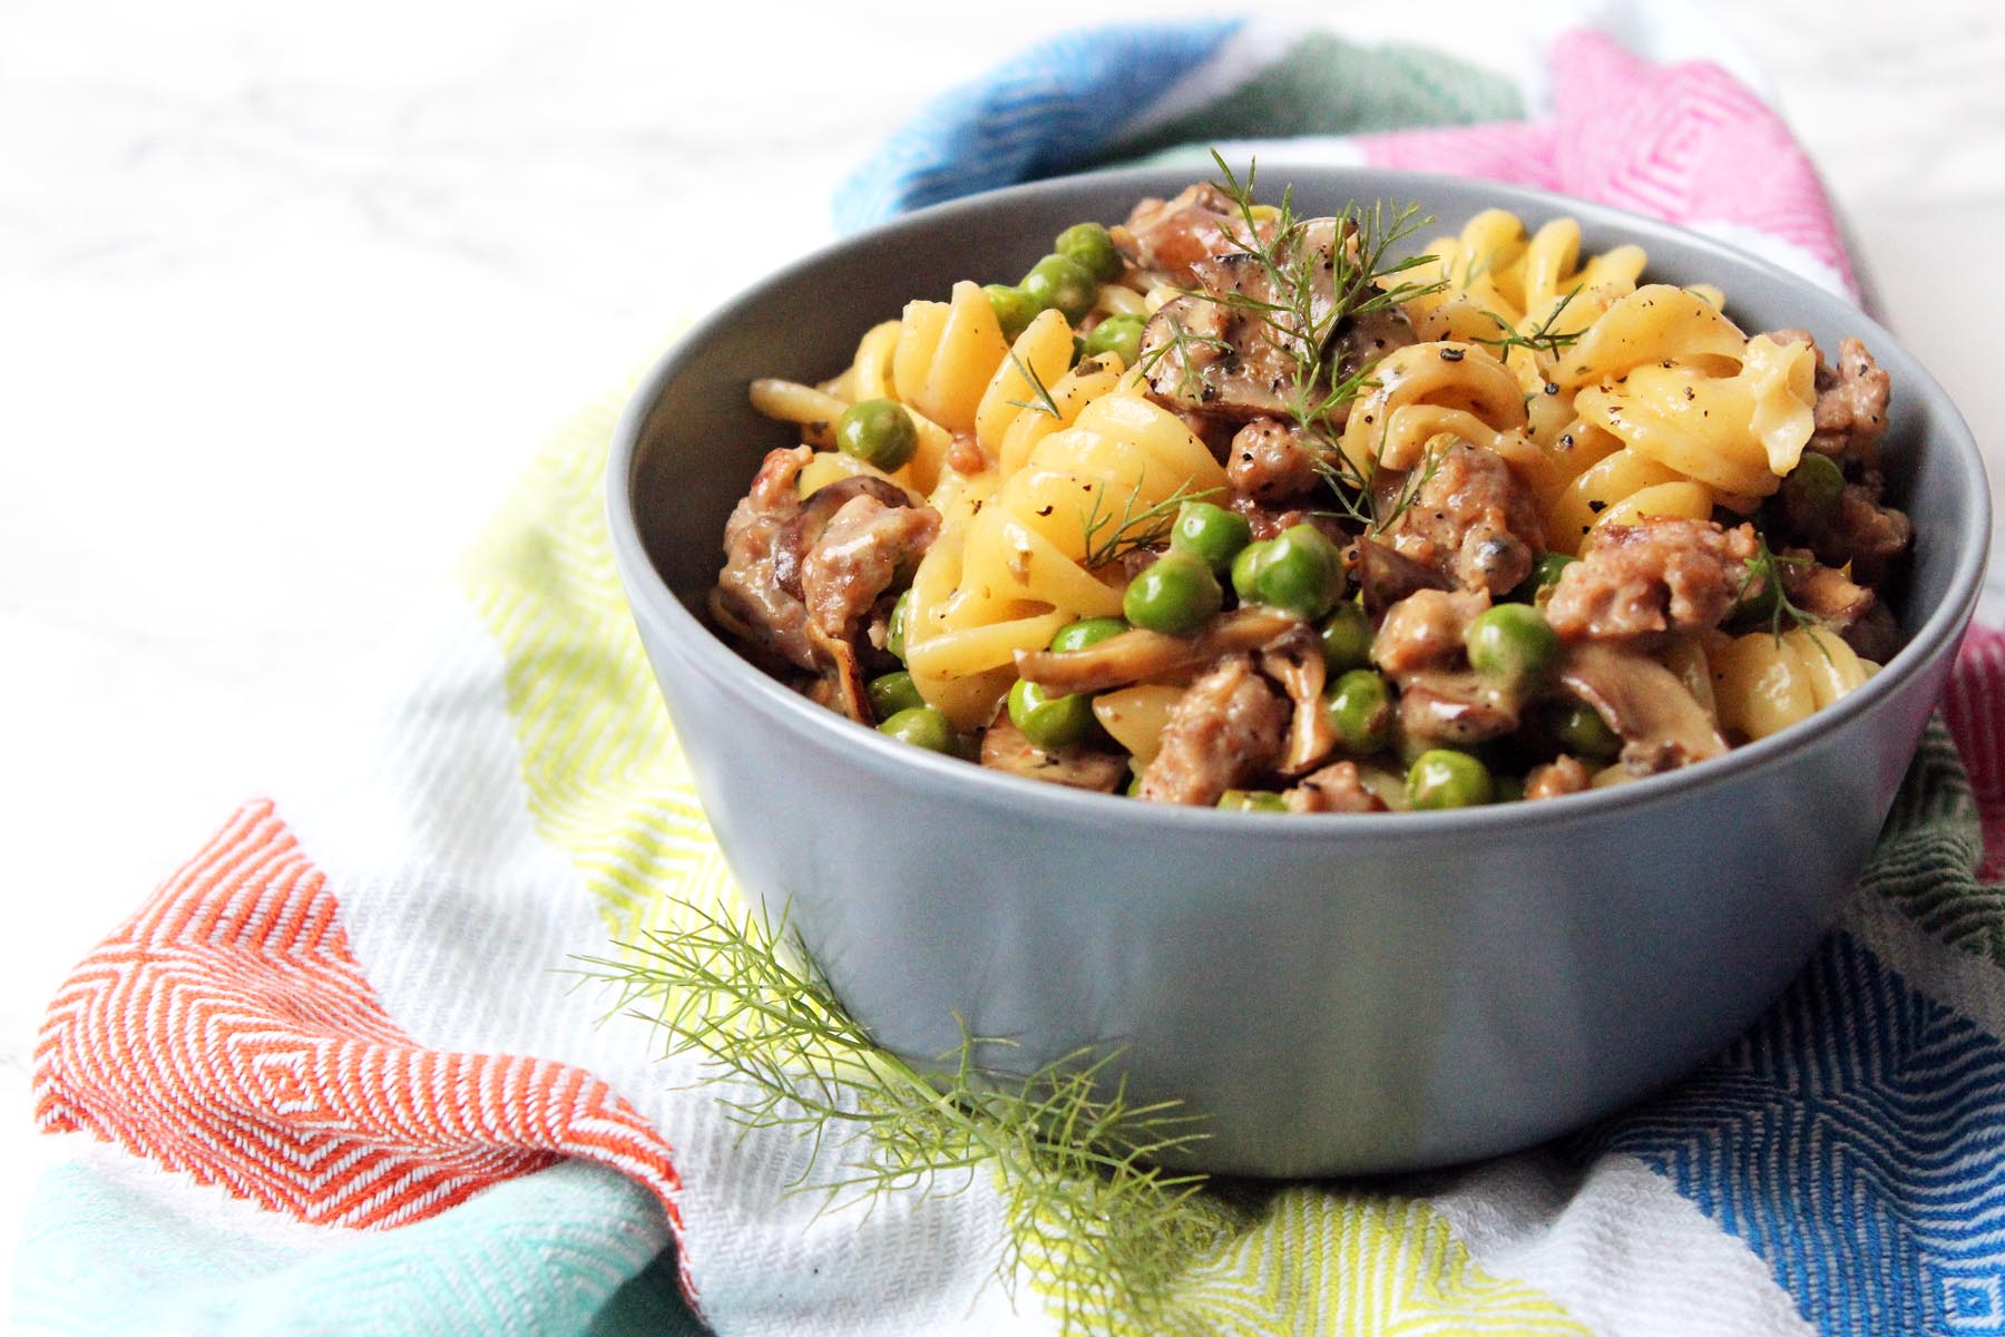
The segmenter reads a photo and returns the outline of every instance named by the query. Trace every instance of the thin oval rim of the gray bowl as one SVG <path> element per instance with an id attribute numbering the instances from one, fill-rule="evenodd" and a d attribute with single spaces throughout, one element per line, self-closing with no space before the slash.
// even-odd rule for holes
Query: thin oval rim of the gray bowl
<path id="1" fill-rule="evenodd" d="M 1267 170 L 1269 180 L 1295 182 L 1297 186 L 1301 178 L 1319 178 L 1311 180 L 1311 188 L 1319 188 L 1323 182 L 1343 182 L 1345 178 L 1383 180 L 1391 176 L 1401 182 L 1412 182 L 1412 194 L 1416 198 L 1426 198 L 1430 190 L 1440 188 L 1454 192 L 1478 188 L 1484 192 L 1488 204 L 1514 208 L 1520 216 L 1528 212 L 1570 214 L 1582 225 L 1590 225 L 1594 229 L 1632 233 L 1632 239 L 1642 243 L 1646 251 L 1652 239 L 1664 239 L 1676 247 L 1698 251 L 1730 267 L 1754 269 L 1788 287 L 1807 289 L 1819 301 L 1847 301 L 1837 293 L 1817 287 L 1802 275 L 1790 273 L 1760 255 L 1742 251 L 1740 247 L 1704 233 L 1694 233 L 1674 222 L 1664 222 L 1662 218 L 1652 218 L 1648 214 L 1612 204 L 1600 204 L 1596 200 L 1584 200 L 1556 190 L 1506 184 L 1482 176 L 1406 172 L 1363 164 L 1347 166 L 1307 160 L 1291 162 L 1287 158 L 1269 158 L 1263 162 L 1263 170 Z M 1027 818 L 1091 824 L 1105 828 L 1109 834 L 1145 834 L 1151 828 L 1161 830 L 1163 824 L 1171 830 L 1187 834 L 1259 830 L 1263 836 L 1311 840 L 1317 844 L 1337 832 L 1367 840 L 1391 838 L 1399 834 L 1482 834 L 1498 826 L 1532 826 L 1538 830 L 1550 830 L 1606 818 L 1620 810 L 1648 808 L 1670 802 L 1694 786 L 1708 786 L 1716 782 L 1724 784 L 1736 776 L 1752 780 L 1762 772 L 1782 766 L 1792 752 L 1845 730 L 1859 716 L 1879 708 L 1905 684 L 1927 672 L 1927 667 L 1941 655 L 1953 651 L 1955 643 L 1961 639 L 1961 633 L 1971 621 L 1983 591 L 1983 573 L 1989 557 L 1993 525 L 1983 455 L 1979 453 L 1977 441 L 1969 425 L 1963 421 L 1961 411 L 1957 411 L 1955 401 L 1951 401 L 1941 383 L 1921 365 L 1901 339 L 1859 307 L 1853 307 L 1847 317 L 1853 321 L 1851 333 L 1859 339 L 1873 341 L 1873 347 L 1877 349 L 1895 347 L 1909 363 L 1915 365 L 1921 385 L 1915 387 L 1913 377 L 1909 377 L 1903 381 L 1901 389 L 1909 395 L 1925 391 L 1917 395 L 1917 399 L 1931 403 L 1929 417 L 1933 431 L 1929 449 L 1949 449 L 1961 467 L 1961 473 L 1975 483 L 1969 489 L 1975 523 L 1967 525 L 1961 535 L 1957 535 L 1963 547 L 1957 551 L 1945 597 L 1915 629 L 1907 643 L 1903 643 L 1901 649 L 1881 667 L 1881 672 L 1851 692 L 1845 700 L 1819 710 L 1807 720 L 1798 720 L 1768 738 L 1732 748 L 1724 756 L 1656 776 L 1640 776 L 1624 784 L 1588 790 L 1582 794 L 1566 794 L 1560 796 L 1560 802 L 1484 804 L 1476 808 L 1383 814 L 1287 814 L 1287 822 L 1263 822 L 1249 828 L 1249 818 L 1257 820 L 1273 814 L 1223 812 L 1217 808 L 1193 808 L 1181 804 L 1143 804 L 1115 794 L 1041 784 L 1037 780 L 976 766 L 960 758 L 946 758 L 922 748 L 912 748 L 886 738 L 876 730 L 862 728 L 838 712 L 816 706 L 806 696 L 794 692 L 740 655 L 722 639 L 722 635 L 712 631 L 704 625 L 704 621 L 690 613 L 688 607 L 684 607 L 682 599 L 674 589 L 670 589 L 668 579 L 654 565 L 654 559 L 648 555 L 646 545 L 640 539 L 640 519 L 634 505 L 634 481 L 642 429 L 646 427 L 648 417 L 652 415 L 654 405 L 662 397 L 668 381 L 678 375 L 682 361 L 694 349 L 702 347 L 704 341 L 714 337 L 724 327 L 742 319 L 746 309 L 764 301 L 772 291 L 796 287 L 804 277 L 862 243 L 894 241 L 904 233 L 930 231 L 958 218 L 982 216 L 996 208 L 1011 208 L 1047 194 L 1065 194 L 1083 184 L 1105 190 L 1129 186 L 1129 192 L 1139 198 L 1139 192 L 1143 190 L 1163 188 L 1161 182 L 1167 178 L 1189 180 L 1191 172 L 1175 166 L 1103 168 L 1067 176 L 1049 176 L 1043 180 L 1005 186 L 998 190 L 982 190 L 940 204 L 930 204 L 822 245 L 758 279 L 736 297 L 716 307 L 708 317 L 694 323 L 654 361 L 648 375 L 628 399 L 614 427 L 612 447 L 608 453 L 608 535 L 612 539 L 614 559 L 634 617 L 638 621 L 646 617 L 662 619 L 664 629 L 700 670 L 704 670 L 712 680 L 740 686 L 746 694 L 750 694 L 748 700 L 760 706 L 768 718 L 776 718 L 794 730 L 804 728 L 824 732 L 822 736 L 830 746 L 864 748 L 866 756 L 874 756 L 880 764 L 916 768 L 912 772 L 914 780 L 972 786 L 968 794 L 970 798 L 1019 808 Z M 1343 186 L 1337 184 L 1337 190 L 1341 188 Z M 1353 194 L 1353 198 L 1369 196 Z M 756 369 L 752 375 L 756 375 Z M 1937 415 L 1935 407 L 1941 407 L 1943 413 Z M 840 732 L 840 738 L 836 732 Z"/>

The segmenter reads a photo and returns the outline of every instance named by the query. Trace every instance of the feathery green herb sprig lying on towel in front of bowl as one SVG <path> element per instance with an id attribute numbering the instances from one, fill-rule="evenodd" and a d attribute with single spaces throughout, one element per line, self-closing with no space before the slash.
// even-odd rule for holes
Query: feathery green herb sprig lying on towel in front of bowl
<path id="1" fill-rule="evenodd" d="M 1203 1175 L 1157 1165 L 1203 1133 L 1169 1102 L 1137 1104 L 1087 1050 L 1023 1076 L 986 1062 L 1009 1040 L 966 1032 L 936 1070 L 876 1048 L 782 920 L 680 906 L 686 928 L 585 958 L 618 1006 L 664 1030 L 668 1054 L 710 1060 L 744 1129 L 788 1129 L 812 1147 L 798 1191 L 824 1211 L 880 1195 L 960 1193 L 994 1177 L 1009 1213 L 996 1279 L 1031 1269 L 1067 1333 L 1119 1315 L 1147 1331 L 1177 1271 L 1213 1241 Z M 818 1175 L 824 1157 L 840 1157 Z"/>

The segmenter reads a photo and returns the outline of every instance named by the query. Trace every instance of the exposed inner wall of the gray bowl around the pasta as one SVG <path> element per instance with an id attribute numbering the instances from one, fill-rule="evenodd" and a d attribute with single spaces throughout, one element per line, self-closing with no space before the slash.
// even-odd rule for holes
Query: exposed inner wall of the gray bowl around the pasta
<path id="1" fill-rule="evenodd" d="M 1263 178 L 1293 182 L 1303 214 L 1333 212 L 1345 200 L 1418 200 L 1436 218 L 1414 245 L 1460 229 L 1488 206 L 1518 212 L 1530 229 L 1554 216 L 1582 227 L 1582 253 L 1640 243 L 1656 283 L 1718 285 L 1734 321 L 1754 333 L 1809 329 L 1829 353 L 1859 337 L 1893 377 L 1891 423 L 1883 445 L 1889 497 L 1917 517 L 1913 561 L 1891 591 L 1909 637 L 1893 667 L 1917 659 L 1923 641 L 1953 635 L 1975 607 L 1989 539 L 1983 463 L 1955 407 L 1927 371 L 1851 303 L 1764 261 L 1668 225 L 1540 190 L 1482 180 L 1377 168 L 1269 164 Z M 956 200 L 842 241 L 756 285 L 672 349 L 628 409 L 616 437 L 610 505 L 616 543 L 638 539 L 648 571 L 630 597 L 660 601 L 682 621 L 694 613 L 722 563 L 724 521 L 750 485 L 760 457 L 792 445 L 788 427 L 756 415 L 746 401 L 754 377 L 818 381 L 848 365 L 862 333 L 898 317 L 914 297 L 944 297 L 958 279 L 1009 281 L 1045 255 L 1051 239 L 1081 218 L 1119 220 L 1145 194 L 1173 194 L 1189 174 L 1133 168 L 1071 176 Z M 622 485 L 624 481 L 624 485 Z M 638 585 L 638 587 L 636 587 Z M 670 595 L 682 607 L 668 607 Z M 758 676 L 750 663 L 740 672 Z M 1883 678 L 1899 678 L 1885 674 Z M 1869 684 L 1859 698 L 1889 692 Z M 1847 702 L 1837 710 L 1865 708 Z M 1833 712 L 1825 712 L 1827 716 Z M 828 724 L 838 722 L 830 716 Z M 1798 728 L 1815 728 L 1813 720 Z M 1784 732 L 1786 738 L 1794 730 Z M 1736 750 L 1764 750 L 1774 740 Z M 1732 758 L 1728 758 L 1732 762 Z M 984 778 L 986 780 L 986 778 Z M 1002 778 L 1031 788 L 1031 782 Z M 1660 778 L 1662 780 L 1662 778 Z M 1053 796 L 1057 798 L 1057 796 Z M 1428 814 L 1432 820 L 1442 814 Z M 1357 818 L 1349 818 L 1355 822 Z M 1404 820 L 1414 820 L 1406 814 Z"/>

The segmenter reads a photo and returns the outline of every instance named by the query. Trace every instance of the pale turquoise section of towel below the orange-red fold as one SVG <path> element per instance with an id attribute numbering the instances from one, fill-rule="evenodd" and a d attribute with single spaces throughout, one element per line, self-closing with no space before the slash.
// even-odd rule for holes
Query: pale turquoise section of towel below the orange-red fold
<path id="1" fill-rule="evenodd" d="M 28 1219 L 14 1257 L 18 1333 L 706 1331 L 676 1295 L 660 1205 L 583 1161 L 399 1231 L 329 1231 L 319 1247 L 203 1221 L 176 1195 L 152 1197 L 88 1161 L 50 1171 Z"/>

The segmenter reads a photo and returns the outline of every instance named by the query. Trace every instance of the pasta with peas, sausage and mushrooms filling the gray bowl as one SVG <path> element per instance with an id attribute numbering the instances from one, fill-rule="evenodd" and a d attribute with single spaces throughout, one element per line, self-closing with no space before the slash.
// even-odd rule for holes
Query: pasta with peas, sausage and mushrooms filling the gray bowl
<path id="1" fill-rule="evenodd" d="M 1221 166 L 866 331 L 738 503 L 716 625 L 816 702 L 1151 802 L 1383 812 L 1704 762 L 1899 647 L 1889 383 L 1490 208 Z"/>

